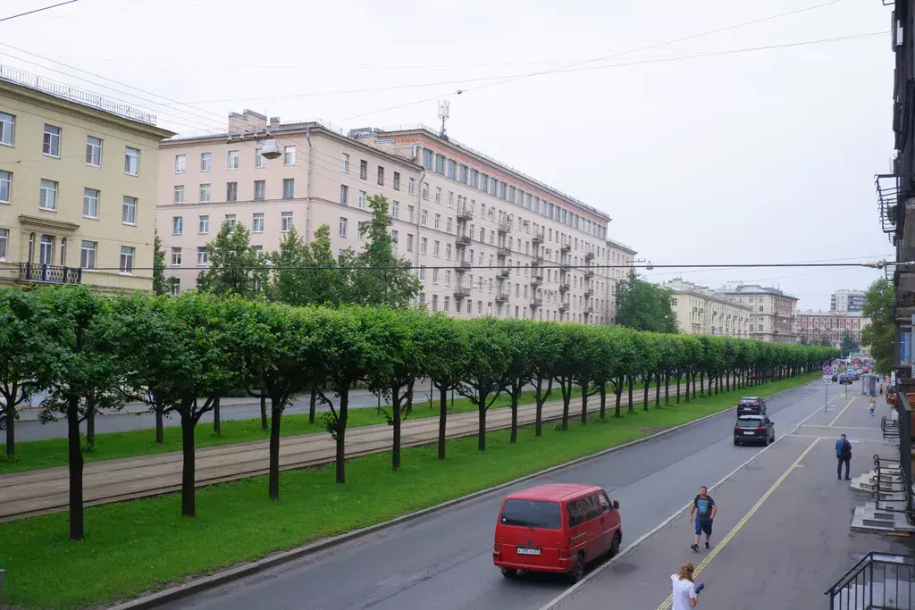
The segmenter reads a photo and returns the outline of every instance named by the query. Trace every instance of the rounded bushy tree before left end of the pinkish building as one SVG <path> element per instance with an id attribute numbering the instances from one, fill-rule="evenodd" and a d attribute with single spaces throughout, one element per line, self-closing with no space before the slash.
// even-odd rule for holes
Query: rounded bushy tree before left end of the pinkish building
<path id="1" fill-rule="evenodd" d="M 201 292 L 238 294 L 248 299 L 261 294 L 266 264 L 250 238 L 244 225 L 231 225 L 228 220 L 222 223 L 216 239 L 205 246 L 210 266 L 198 275 Z"/>

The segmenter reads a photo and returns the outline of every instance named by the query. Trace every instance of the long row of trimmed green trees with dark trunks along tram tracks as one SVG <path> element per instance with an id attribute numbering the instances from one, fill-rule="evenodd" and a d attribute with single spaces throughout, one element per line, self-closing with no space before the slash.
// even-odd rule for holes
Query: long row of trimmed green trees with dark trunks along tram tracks
<path id="1" fill-rule="evenodd" d="M 438 455 L 445 458 L 447 393 L 468 397 L 479 411 L 479 450 L 486 449 L 486 416 L 502 393 L 511 397 L 511 441 L 517 440 L 522 388 L 536 388 L 536 433 L 554 391 L 563 401 L 560 429 L 569 423 L 571 395 L 599 395 L 607 416 L 608 391 L 655 384 L 655 401 L 672 382 L 676 400 L 695 397 L 696 380 L 710 391 L 743 387 L 819 367 L 834 350 L 759 343 L 726 337 L 639 332 L 611 326 L 555 324 L 521 319 L 456 320 L 425 311 L 344 305 L 293 306 L 191 292 L 178 298 L 133 294 L 102 296 L 84 287 L 0 291 L 0 391 L 7 414 L 31 391 L 50 389 L 45 418 L 69 424 L 70 537 L 81 539 L 82 447 L 80 424 L 101 408 L 142 399 L 158 414 L 178 415 L 184 452 L 182 514 L 196 513 L 194 430 L 220 396 L 263 391 L 270 403 L 268 495 L 279 498 L 280 423 L 299 392 L 328 401 L 323 415 L 337 443 L 336 476 L 346 481 L 350 389 L 365 382 L 391 402 L 392 467 L 400 466 L 400 429 L 412 409 L 419 379 L 439 391 Z M 337 405 L 324 395 L 333 392 Z M 643 408 L 648 409 L 648 392 Z M 15 451 L 14 417 L 7 452 Z M 161 433 L 161 430 L 158 431 Z"/>

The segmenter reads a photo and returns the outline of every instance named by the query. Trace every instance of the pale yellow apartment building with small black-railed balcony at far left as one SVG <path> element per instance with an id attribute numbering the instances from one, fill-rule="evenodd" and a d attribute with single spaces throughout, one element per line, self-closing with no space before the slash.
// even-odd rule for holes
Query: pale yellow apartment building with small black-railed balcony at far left
<path id="1" fill-rule="evenodd" d="M 0 66 L 0 283 L 152 288 L 156 117 Z"/>

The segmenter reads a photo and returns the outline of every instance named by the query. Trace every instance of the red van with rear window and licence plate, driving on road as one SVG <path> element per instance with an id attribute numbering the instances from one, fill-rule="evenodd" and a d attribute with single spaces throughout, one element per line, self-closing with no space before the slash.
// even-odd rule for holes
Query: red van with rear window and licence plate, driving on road
<path id="1" fill-rule="evenodd" d="M 519 570 L 567 573 L 573 583 L 585 563 L 619 551 L 619 502 L 601 487 L 531 487 L 502 500 L 492 562 L 510 578 Z"/>

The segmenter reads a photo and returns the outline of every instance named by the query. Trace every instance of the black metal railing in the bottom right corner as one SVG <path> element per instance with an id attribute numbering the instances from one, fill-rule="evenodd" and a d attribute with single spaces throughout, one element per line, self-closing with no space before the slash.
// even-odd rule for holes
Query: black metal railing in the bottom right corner
<path id="1" fill-rule="evenodd" d="M 825 592 L 830 610 L 911 610 L 915 560 L 869 552 Z"/>

